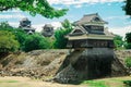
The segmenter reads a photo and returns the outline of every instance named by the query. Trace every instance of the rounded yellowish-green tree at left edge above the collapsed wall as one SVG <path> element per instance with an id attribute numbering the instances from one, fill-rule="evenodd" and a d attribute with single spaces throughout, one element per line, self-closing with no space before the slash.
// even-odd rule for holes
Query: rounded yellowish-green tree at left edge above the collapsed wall
<path id="1" fill-rule="evenodd" d="M 11 32 L 0 30 L 0 52 L 16 51 L 20 48 Z"/>

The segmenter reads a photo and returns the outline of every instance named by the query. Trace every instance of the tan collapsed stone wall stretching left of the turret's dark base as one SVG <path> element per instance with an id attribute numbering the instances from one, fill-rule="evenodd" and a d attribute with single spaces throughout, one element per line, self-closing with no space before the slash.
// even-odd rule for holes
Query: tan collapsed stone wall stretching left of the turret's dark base
<path id="1" fill-rule="evenodd" d="M 0 60 L 0 76 L 50 78 L 67 57 L 68 50 L 35 50 L 11 53 Z"/>

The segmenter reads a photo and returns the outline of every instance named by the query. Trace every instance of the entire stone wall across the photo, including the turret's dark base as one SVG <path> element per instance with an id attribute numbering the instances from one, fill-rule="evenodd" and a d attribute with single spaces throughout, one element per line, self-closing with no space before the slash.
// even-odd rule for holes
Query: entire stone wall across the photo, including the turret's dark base
<path id="1" fill-rule="evenodd" d="M 123 62 L 127 57 L 131 57 L 130 50 L 120 50 L 114 53 L 111 49 L 102 48 L 72 50 L 70 54 L 69 50 L 17 52 L 0 58 L 0 76 L 55 78 L 59 83 L 105 76 L 123 76 L 128 75 Z M 107 64 L 110 62 L 111 66 Z"/>

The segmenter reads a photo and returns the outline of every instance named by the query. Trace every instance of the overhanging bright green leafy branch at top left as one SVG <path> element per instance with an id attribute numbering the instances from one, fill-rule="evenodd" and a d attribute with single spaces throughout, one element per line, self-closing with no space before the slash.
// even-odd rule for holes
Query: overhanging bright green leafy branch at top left
<path id="1" fill-rule="evenodd" d="M 17 8 L 32 15 L 40 14 L 47 18 L 60 17 L 68 11 L 67 9 L 53 9 L 47 0 L 0 0 L 0 11 Z"/>

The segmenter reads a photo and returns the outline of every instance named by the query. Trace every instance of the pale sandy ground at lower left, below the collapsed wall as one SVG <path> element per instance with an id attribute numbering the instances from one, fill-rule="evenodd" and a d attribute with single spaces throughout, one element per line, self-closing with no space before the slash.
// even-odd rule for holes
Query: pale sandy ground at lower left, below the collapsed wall
<path id="1" fill-rule="evenodd" d="M 63 85 L 28 77 L 0 77 L 0 87 L 87 87 L 85 85 Z"/>

